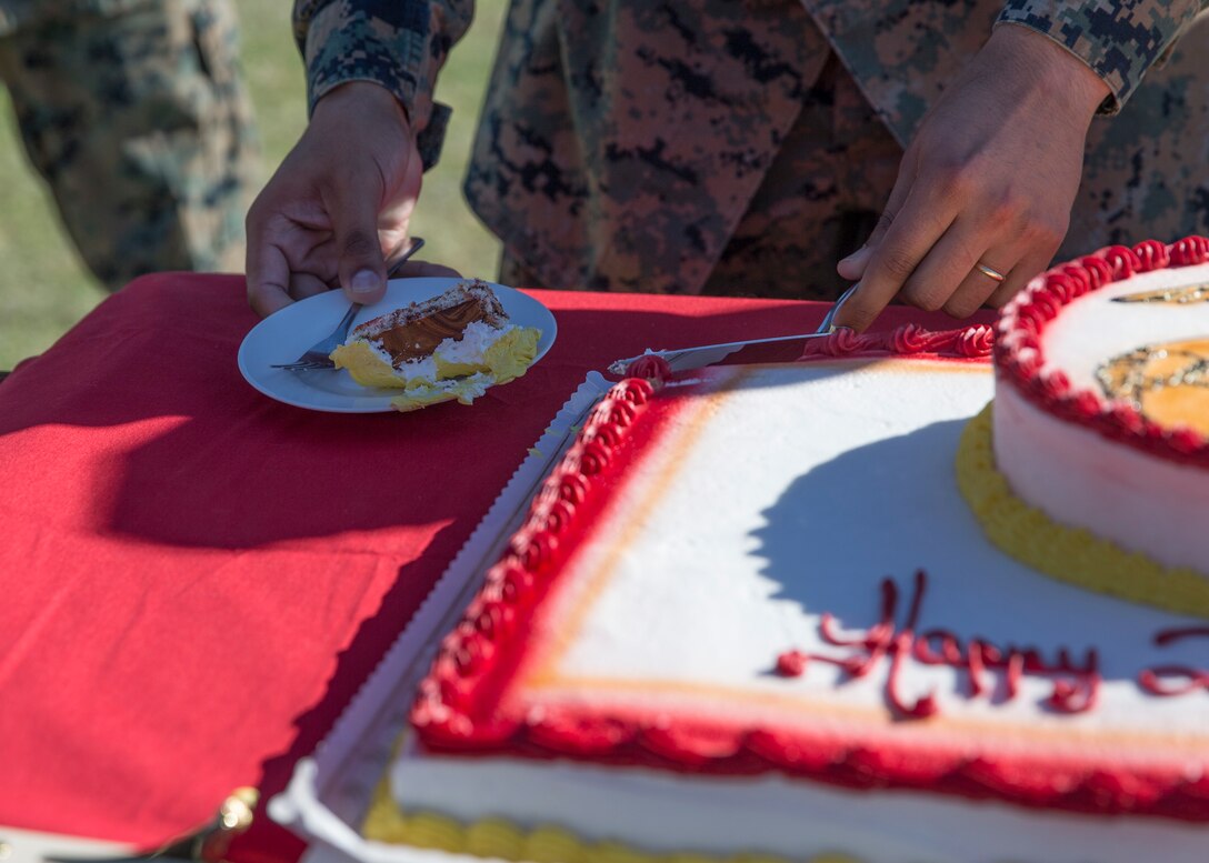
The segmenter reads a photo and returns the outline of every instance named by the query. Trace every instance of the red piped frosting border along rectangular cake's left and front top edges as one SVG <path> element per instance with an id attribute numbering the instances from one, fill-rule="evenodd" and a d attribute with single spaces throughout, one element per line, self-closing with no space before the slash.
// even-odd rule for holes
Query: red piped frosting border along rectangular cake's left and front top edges
<path id="1" fill-rule="evenodd" d="M 954 749 L 873 747 L 829 734 L 707 719 L 670 725 L 607 707 L 507 716 L 499 700 L 523 654 L 530 621 L 575 537 L 594 523 L 601 498 L 609 497 L 618 475 L 653 434 L 655 423 L 643 419 L 658 386 L 627 378 L 607 393 L 544 481 L 461 622 L 442 639 L 410 717 L 427 751 L 571 757 L 688 774 L 771 769 L 850 788 L 910 788 L 1047 810 L 1209 821 L 1209 774 L 1188 780 L 1159 768 L 1115 769 L 1077 757 L 1063 764 L 987 753 L 971 758 Z"/>

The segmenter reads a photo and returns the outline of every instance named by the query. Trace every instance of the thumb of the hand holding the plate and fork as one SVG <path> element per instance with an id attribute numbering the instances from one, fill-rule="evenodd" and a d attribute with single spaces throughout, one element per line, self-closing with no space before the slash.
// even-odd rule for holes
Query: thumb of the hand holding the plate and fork
<path id="1" fill-rule="evenodd" d="M 331 208 L 340 285 L 352 302 L 366 306 L 386 295 L 386 257 L 377 233 L 382 189 L 358 170 L 346 175 Z"/>

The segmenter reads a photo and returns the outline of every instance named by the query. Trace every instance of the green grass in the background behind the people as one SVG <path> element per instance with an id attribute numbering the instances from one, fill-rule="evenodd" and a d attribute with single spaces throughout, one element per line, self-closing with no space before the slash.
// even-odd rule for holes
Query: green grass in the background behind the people
<path id="1" fill-rule="evenodd" d="M 290 4 L 239 0 L 243 70 L 256 108 L 264 176 L 306 123 L 302 63 L 290 34 Z M 493 277 L 499 244 L 462 197 L 462 178 L 484 88 L 494 59 L 507 0 L 480 0 L 469 34 L 441 73 L 438 99 L 453 106 L 440 164 L 424 178 L 412 231 L 428 242 L 423 257 L 468 276 Z M 88 313 L 105 293 L 63 233 L 54 203 L 29 167 L 0 89 L 0 370 L 41 353 Z"/>

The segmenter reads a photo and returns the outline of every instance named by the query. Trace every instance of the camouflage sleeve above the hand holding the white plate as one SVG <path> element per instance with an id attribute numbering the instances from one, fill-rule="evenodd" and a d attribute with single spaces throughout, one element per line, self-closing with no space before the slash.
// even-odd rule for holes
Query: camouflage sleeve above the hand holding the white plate
<path id="1" fill-rule="evenodd" d="M 424 167 L 433 167 L 450 116 L 433 102 L 436 74 L 473 15 L 474 0 L 295 0 L 308 112 L 342 83 L 380 83 L 406 106 Z"/>

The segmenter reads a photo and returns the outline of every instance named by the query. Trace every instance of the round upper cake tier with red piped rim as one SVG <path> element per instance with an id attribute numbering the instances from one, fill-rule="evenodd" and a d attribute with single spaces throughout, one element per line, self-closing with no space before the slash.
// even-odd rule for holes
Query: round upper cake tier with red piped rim
<path id="1" fill-rule="evenodd" d="M 994 462 L 1013 498 L 1121 550 L 1089 586 L 1176 610 L 1193 610 L 1186 584 L 1162 573 L 1209 578 L 1207 261 L 1191 237 L 1055 267 L 1005 307 L 995 348 Z M 1084 581 L 1069 563 L 1052 574 Z"/>

